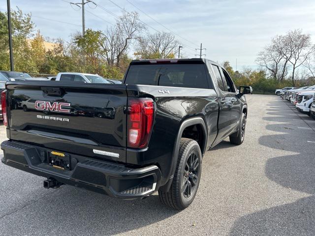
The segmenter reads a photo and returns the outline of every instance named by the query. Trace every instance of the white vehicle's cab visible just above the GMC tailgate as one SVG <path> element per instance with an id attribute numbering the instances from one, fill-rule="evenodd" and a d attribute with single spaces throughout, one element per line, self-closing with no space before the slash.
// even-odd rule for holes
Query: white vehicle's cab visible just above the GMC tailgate
<path id="1" fill-rule="evenodd" d="M 56 81 L 77 81 L 84 83 L 100 83 L 100 84 L 113 84 L 99 75 L 77 73 L 77 72 L 61 72 L 58 73 Z"/>

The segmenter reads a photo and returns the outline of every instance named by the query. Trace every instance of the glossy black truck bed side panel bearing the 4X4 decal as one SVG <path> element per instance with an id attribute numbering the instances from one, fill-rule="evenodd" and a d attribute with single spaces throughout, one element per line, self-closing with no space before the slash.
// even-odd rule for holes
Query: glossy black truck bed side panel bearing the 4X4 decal
<path id="1" fill-rule="evenodd" d="M 170 166 L 176 137 L 182 122 L 189 118 L 203 118 L 208 131 L 206 149 L 215 140 L 219 104 L 214 89 L 128 85 L 127 93 L 128 97 L 152 97 L 156 105 L 153 133 L 148 148 L 144 150 L 127 148 L 127 163 L 139 165 L 155 163 L 160 167 L 162 177 L 166 177 L 164 181 L 167 181 L 167 177 L 171 175 Z"/>

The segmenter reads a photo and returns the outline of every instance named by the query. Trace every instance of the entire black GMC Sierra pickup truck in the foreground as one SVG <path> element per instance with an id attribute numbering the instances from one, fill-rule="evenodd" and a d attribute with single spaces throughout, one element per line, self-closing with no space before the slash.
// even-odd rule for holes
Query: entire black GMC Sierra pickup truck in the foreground
<path id="1" fill-rule="evenodd" d="M 120 85 L 7 82 L 1 161 L 46 177 L 46 188 L 70 184 L 123 199 L 158 191 L 184 209 L 205 151 L 227 137 L 243 143 L 251 92 L 208 59 L 133 60 Z"/>

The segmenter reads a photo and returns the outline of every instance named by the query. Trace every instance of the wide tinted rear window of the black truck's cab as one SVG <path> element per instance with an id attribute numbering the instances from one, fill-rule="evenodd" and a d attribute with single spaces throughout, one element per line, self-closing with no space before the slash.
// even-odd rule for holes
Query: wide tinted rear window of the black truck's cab
<path id="1" fill-rule="evenodd" d="M 204 64 L 130 65 L 125 84 L 209 89 Z"/>

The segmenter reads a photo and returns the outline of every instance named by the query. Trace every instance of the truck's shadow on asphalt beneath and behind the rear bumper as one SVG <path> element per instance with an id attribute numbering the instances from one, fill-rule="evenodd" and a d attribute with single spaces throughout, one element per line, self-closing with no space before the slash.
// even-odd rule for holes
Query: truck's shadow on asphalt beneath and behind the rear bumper
<path id="1" fill-rule="evenodd" d="M 145 227 L 175 215 L 178 211 L 164 207 L 157 195 L 144 200 L 124 201 L 101 194 L 62 186 L 1 219 L 9 224 L 0 235 L 115 235 Z M 27 212 L 27 214 L 26 214 Z M 11 218 L 12 217 L 12 218 Z M 28 229 L 23 229 L 29 225 Z"/>

